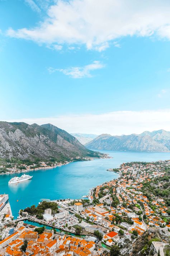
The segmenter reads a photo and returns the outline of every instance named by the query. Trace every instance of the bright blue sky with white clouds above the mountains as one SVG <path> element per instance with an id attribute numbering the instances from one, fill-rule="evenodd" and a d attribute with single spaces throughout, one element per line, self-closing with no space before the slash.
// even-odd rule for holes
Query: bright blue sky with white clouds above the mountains
<path id="1" fill-rule="evenodd" d="M 170 131 L 169 0 L 0 0 L 0 120 Z"/>

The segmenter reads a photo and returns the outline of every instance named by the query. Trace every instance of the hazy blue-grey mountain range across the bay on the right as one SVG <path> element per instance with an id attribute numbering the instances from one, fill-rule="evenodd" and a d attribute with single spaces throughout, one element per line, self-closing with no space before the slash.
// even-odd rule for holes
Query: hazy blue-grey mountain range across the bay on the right
<path id="1" fill-rule="evenodd" d="M 122 136 L 101 134 L 85 144 L 95 150 L 170 152 L 170 132 L 159 130 Z"/>

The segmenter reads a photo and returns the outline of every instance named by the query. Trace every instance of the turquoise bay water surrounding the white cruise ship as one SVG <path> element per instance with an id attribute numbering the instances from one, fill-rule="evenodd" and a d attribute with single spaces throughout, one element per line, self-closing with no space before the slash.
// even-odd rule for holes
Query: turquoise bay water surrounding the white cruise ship
<path id="1" fill-rule="evenodd" d="M 8 184 L 16 176 L 0 175 L 0 194 L 9 194 L 9 201 L 14 217 L 19 209 L 37 205 L 44 199 L 77 199 L 89 193 L 89 190 L 105 181 L 117 178 L 117 173 L 106 169 L 116 168 L 123 162 L 156 161 L 170 159 L 170 153 L 147 153 L 133 151 L 101 151 L 113 156 L 111 159 L 74 162 L 61 167 L 27 172 L 32 180 L 19 184 Z M 17 174 L 21 176 L 22 174 Z M 17 200 L 19 200 L 17 202 Z"/>

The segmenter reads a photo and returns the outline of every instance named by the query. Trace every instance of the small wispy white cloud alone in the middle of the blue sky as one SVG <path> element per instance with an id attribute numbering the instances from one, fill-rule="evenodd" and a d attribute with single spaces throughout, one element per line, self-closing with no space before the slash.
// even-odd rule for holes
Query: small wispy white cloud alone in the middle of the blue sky
<path id="1" fill-rule="evenodd" d="M 49 73 L 60 71 L 63 74 L 70 76 L 72 78 L 85 78 L 92 77 L 91 71 L 101 69 L 103 67 L 104 65 L 100 61 L 93 61 L 93 63 L 83 67 L 70 67 L 68 69 L 54 69 L 52 67 L 49 67 L 48 71 Z"/>

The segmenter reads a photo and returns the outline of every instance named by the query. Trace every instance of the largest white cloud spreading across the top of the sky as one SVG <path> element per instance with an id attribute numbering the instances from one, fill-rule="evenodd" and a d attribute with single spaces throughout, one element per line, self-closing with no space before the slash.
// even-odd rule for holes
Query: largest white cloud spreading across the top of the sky
<path id="1" fill-rule="evenodd" d="M 33 0 L 27 0 L 33 3 Z M 168 0 L 58 0 L 38 26 L 13 30 L 11 37 L 38 43 L 85 44 L 102 50 L 123 36 L 153 36 L 170 40 Z M 105 47 L 104 47 L 105 45 Z"/>

